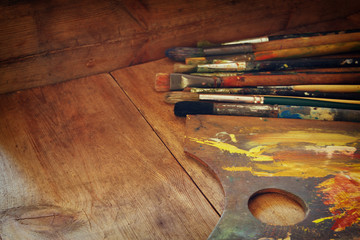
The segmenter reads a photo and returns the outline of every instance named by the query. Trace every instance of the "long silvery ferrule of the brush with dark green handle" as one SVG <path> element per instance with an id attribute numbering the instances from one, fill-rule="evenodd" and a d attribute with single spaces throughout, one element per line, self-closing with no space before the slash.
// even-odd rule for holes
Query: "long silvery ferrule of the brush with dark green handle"
<path id="1" fill-rule="evenodd" d="M 219 95 L 219 94 L 199 94 L 199 100 L 218 101 L 218 102 L 237 102 L 237 103 L 257 103 L 263 104 L 262 96 L 236 96 L 236 95 Z"/>

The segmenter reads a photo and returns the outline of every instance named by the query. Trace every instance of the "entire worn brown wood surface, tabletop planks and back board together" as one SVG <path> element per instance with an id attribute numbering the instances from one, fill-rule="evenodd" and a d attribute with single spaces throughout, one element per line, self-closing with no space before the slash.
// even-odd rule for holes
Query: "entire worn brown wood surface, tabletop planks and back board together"
<path id="1" fill-rule="evenodd" d="M 173 62 L 125 67 L 204 39 L 360 28 L 351 0 L 3 1 L 0 11 L 3 240 L 206 239 L 224 191 L 184 154 L 185 119 L 154 91 Z"/>

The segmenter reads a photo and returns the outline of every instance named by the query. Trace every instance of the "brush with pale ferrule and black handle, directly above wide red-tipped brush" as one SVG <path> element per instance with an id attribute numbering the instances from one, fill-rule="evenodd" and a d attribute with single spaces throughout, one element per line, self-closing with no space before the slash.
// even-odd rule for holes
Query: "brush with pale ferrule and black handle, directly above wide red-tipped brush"
<path id="1" fill-rule="evenodd" d="M 309 68 L 359 67 L 360 58 L 301 58 L 265 61 L 235 61 L 212 64 L 174 64 L 174 72 L 283 71 Z"/>

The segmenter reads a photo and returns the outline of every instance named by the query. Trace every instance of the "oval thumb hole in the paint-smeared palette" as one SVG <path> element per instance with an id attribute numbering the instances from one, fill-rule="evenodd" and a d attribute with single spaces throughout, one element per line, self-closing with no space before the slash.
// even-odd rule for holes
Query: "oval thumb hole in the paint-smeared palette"
<path id="1" fill-rule="evenodd" d="M 308 211 L 301 198 L 275 188 L 254 193 L 248 201 L 248 207 L 261 222 L 278 226 L 297 224 L 305 219 Z"/>

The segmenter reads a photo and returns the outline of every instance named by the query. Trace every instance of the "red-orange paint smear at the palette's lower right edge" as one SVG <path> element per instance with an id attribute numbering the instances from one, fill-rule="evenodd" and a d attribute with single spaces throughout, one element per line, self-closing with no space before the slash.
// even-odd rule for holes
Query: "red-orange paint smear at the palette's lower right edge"
<path id="1" fill-rule="evenodd" d="M 337 174 L 334 178 L 321 183 L 325 205 L 333 205 L 330 212 L 335 220 L 332 230 L 342 231 L 359 222 L 360 218 L 360 182 L 348 176 Z"/>

